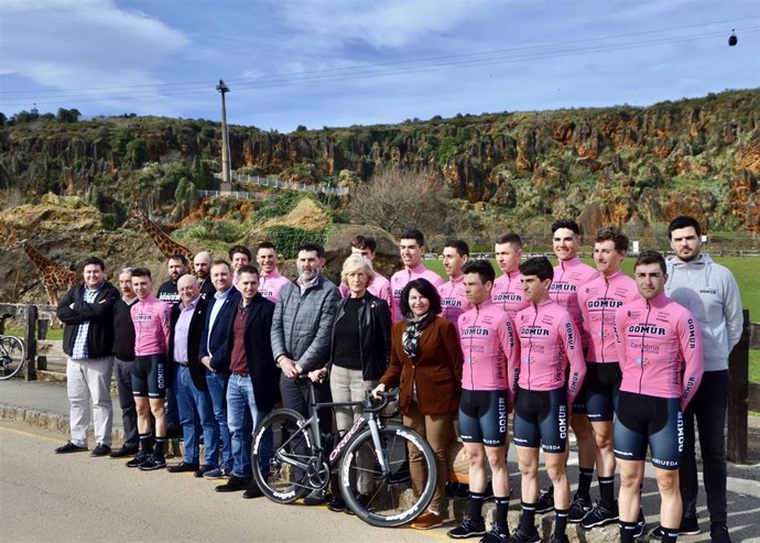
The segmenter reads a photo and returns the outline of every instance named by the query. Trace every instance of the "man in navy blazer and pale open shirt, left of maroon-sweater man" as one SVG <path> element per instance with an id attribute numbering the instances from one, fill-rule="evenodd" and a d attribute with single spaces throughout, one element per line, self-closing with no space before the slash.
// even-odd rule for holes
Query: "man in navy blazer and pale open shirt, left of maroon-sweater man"
<path id="1" fill-rule="evenodd" d="M 226 260 L 211 262 L 211 282 L 216 294 L 208 301 L 206 324 L 200 336 L 198 356 L 206 367 L 206 383 L 211 394 L 214 415 L 219 423 L 221 437 L 221 461 L 204 477 L 207 479 L 222 479 L 232 471 L 232 447 L 229 428 L 227 427 L 227 411 L 225 410 L 225 390 L 229 377 L 230 341 L 229 329 L 235 317 L 235 308 L 240 303 L 240 292 L 232 286 L 232 268 Z"/>

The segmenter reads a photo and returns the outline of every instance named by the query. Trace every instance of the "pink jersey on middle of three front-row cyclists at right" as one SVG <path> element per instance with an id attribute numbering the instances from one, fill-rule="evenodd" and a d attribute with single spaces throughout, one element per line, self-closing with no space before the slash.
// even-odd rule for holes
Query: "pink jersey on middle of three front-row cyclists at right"
<path id="1" fill-rule="evenodd" d="M 556 390 L 566 385 L 567 402 L 573 403 L 586 377 L 586 362 L 569 313 L 546 300 L 518 312 L 514 326 L 520 336 L 520 388 Z"/>

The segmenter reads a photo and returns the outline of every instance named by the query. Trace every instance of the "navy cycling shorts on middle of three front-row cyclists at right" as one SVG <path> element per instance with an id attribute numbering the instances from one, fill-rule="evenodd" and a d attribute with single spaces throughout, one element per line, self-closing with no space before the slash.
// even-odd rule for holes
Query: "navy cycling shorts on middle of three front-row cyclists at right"
<path id="1" fill-rule="evenodd" d="M 564 453 L 567 447 L 567 391 L 518 389 L 514 400 L 514 436 L 520 447 Z"/>

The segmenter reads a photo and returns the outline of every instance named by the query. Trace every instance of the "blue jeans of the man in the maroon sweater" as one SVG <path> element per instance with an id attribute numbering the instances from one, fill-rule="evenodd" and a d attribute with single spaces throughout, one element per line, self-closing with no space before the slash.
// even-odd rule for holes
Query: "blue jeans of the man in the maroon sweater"
<path id="1" fill-rule="evenodd" d="M 259 410 L 256 405 L 253 383 L 250 376 L 229 377 L 227 383 L 227 415 L 229 432 L 232 436 L 232 475 L 236 477 L 251 477 L 251 442 L 253 430 L 269 414 L 269 410 Z M 260 469 L 264 469 L 271 457 L 272 443 L 264 439 L 259 461 Z"/>

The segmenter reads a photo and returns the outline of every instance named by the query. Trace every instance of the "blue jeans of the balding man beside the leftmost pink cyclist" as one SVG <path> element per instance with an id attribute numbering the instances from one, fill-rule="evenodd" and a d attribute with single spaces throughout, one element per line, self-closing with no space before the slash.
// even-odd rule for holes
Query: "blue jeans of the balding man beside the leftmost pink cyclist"
<path id="1" fill-rule="evenodd" d="M 189 369 L 186 366 L 174 366 L 174 391 L 180 410 L 180 424 L 185 441 L 184 460 L 188 464 L 200 464 L 198 427 L 203 427 L 203 441 L 208 466 L 217 466 L 219 457 L 219 426 L 214 419 L 211 397 L 207 390 L 195 388 Z M 198 424 L 199 423 L 199 424 Z"/>

